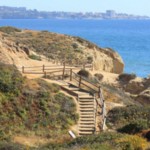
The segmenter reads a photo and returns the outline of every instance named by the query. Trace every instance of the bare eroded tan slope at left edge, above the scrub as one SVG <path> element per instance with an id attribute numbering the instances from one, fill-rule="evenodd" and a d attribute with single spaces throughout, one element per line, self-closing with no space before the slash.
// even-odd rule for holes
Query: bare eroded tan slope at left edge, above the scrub
<path id="1" fill-rule="evenodd" d="M 0 35 L 1 62 L 23 66 L 29 60 L 28 55 L 30 51 L 26 46 L 11 42 Z"/>

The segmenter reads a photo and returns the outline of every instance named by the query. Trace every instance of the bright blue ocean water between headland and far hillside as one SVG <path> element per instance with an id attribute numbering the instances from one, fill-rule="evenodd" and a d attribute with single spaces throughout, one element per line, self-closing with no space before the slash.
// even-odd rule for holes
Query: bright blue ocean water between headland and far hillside
<path id="1" fill-rule="evenodd" d="M 150 74 L 150 20 L 0 20 L 0 26 L 80 36 L 117 51 L 125 73 Z"/>

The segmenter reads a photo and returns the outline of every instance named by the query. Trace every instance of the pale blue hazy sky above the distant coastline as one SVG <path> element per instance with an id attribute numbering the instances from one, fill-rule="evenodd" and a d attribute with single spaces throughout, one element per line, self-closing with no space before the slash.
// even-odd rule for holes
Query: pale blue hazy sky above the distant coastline
<path id="1" fill-rule="evenodd" d="M 105 12 L 150 16 L 150 0 L 0 0 L 3 6 L 25 6 L 27 9 L 71 12 Z"/>

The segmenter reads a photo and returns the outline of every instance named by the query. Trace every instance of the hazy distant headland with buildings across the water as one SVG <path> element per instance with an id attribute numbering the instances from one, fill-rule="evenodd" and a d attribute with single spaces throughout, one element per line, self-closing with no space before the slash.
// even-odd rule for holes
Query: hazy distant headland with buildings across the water
<path id="1" fill-rule="evenodd" d="M 100 12 L 64 12 L 38 11 L 26 7 L 0 6 L 0 19 L 150 19 L 149 16 L 139 16 L 116 13 L 114 10 Z"/>

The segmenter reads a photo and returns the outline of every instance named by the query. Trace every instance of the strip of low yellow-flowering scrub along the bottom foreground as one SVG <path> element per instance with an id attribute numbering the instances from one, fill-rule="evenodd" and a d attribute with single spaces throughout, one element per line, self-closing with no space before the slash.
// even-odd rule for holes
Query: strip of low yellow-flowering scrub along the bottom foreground
<path id="1" fill-rule="evenodd" d="M 105 132 L 97 135 L 82 136 L 65 143 L 56 142 L 41 146 L 40 148 L 21 146 L 19 144 L 3 143 L 4 148 L 11 150 L 143 150 L 148 147 L 146 139 L 137 135 Z M 148 150 L 148 149 L 147 149 Z"/>

